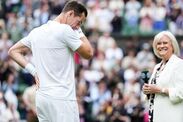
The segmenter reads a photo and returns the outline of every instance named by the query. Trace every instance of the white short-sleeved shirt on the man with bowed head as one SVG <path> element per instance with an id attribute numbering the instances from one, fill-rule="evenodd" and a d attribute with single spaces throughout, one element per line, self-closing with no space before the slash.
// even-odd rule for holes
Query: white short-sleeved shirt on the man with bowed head
<path id="1" fill-rule="evenodd" d="M 76 100 L 73 53 L 82 44 L 76 32 L 69 25 L 48 21 L 20 41 L 32 50 L 38 93 Z"/>

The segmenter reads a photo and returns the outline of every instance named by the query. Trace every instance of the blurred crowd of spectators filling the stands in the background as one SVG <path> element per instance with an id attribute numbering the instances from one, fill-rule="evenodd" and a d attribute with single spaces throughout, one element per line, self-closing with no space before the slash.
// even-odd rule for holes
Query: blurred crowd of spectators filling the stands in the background
<path id="1" fill-rule="evenodd" d="M 80 0 L 88 8 L 83 31 L 95 55 L 76 53 L 81 122 L 147 122 L 141 71 L 158 59 L 152 40 L 119 47 L 111 34 L 148 35 L 170 30 L 183 35 L 183 0 Z M 13 62 L 8 49 L 33 28 L 60 14 L 66 0 L 0 1 L 0 122 L 36 122 L 34 78 Z M 48 35 L 49 36 L 49 35 Z M 183 40 L 178 40 L 183 57 Z M 138 42 L 138 40 L 136 40 Z M 33 62 L 31 52 L 26 58 Z"/>

